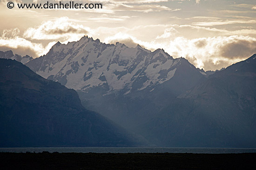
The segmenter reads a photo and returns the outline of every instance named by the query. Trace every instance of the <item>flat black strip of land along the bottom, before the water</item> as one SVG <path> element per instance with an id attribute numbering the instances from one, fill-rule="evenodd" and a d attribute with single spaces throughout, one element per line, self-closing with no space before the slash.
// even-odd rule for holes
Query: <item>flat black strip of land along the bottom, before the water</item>
<path id="1" fill-rule="evenodd" d="M 1 170 L 256 170 L 256 153 L 0 153 Z"/>

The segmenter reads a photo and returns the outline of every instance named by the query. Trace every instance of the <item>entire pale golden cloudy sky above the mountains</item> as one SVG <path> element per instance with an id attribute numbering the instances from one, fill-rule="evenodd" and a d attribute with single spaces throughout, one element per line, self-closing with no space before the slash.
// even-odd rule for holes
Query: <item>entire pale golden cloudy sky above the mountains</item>
<path id="1" fill-rule="evenodd" d="M 7 8 L 13 2 L 12 9 Z M 154 51 L 164 49 L 198 68 L 220 70 L 256 53 L 256 0 L 77 0 L 101 9 L 19 9 L 0 0 L 0 51 L 46 54 L 58 41 L 84 35 Z M 62 0 L 61 3 L 69 3 Z"/>

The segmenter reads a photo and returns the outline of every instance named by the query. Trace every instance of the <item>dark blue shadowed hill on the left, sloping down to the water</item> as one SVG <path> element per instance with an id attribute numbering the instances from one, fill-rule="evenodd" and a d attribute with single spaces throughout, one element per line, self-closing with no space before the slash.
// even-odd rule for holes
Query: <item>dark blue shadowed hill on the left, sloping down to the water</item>
<path id="1" fill-rule="evenodd" d="M 74 90 L 0 59 L 0 147 L 135 146 L 134 141 L 84 109 Z"/>

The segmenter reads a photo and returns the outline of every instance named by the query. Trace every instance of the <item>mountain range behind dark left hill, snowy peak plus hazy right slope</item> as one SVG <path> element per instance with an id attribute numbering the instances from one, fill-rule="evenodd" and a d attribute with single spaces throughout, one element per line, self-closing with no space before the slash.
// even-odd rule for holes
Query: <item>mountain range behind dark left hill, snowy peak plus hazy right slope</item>
<path id="1" fill-rule="evenodd" d="M 82 105 L 162 147 L 256 147 L 256 55 L 205 72 L 163 49 L 82 37 L 28 61 Z"/>

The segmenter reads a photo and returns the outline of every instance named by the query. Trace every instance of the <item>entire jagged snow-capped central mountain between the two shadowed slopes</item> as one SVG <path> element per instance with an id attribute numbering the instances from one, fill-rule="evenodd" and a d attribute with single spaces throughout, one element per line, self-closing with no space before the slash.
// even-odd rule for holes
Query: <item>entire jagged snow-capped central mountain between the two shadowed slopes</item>
<path id="1" fill-rule="evenodd" d="M 188 60 L 173 59 L 162 49 L 151 52 L 87 36 L 67 45 L 58 42 L 26 65 L 76 90 L 86 108 L 130 130 L 206 76 Z"/>

